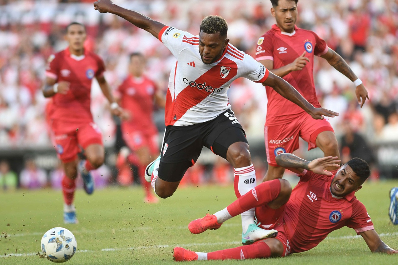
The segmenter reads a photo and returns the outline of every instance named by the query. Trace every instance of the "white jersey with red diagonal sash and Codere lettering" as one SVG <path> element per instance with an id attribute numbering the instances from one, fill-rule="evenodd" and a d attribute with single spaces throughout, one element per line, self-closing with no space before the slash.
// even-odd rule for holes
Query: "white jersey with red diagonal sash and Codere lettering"
<path id="1" fill-rule="evenodd" d="M 244 77 L 262 83 L 268 77 L 261 63 L 231 44 L 219 60 L 205 64 L 199 53 L 199 36 L 165 26 L 158 38 L 177 58 L 166 95 L 166 126 L 214 119 L 230 109 L 227 90 L 232 81 Z"/>

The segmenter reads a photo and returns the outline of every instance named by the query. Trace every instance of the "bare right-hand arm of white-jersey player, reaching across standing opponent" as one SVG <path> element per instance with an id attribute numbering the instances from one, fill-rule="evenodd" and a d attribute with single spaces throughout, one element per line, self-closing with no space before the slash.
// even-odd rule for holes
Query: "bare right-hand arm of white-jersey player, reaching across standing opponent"
<path id="1" fill-rule="evenodd" d="M 314 107 L 293 86 L 272 72 L 269 72 L 268 78 L 262 84 L 271 86 L 277 93 L 297 104 L 314 119 L 324 119 L 323 116 L 335 117 L 339 115 L 339 113 L 328 109 Z"/>

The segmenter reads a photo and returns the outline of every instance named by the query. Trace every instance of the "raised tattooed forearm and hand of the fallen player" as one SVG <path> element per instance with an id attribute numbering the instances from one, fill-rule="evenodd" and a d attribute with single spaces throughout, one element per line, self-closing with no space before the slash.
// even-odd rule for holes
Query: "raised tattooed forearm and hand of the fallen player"
<path id="1" fill-rule="evenodd" d="M 307 161 L 295 156 L 294 154 L 279 154 L 275 157 L 278 166 L 286 168 L 295 173 L 301 173 L 304 170 L 310 170 L 314 173 L 323 175 L 333 175 L 331 172 L 325 170 L 327 167 L 340 167 L 340 160 L 337 156 L 326 156 L 316 158 L 312 161 Z"/>

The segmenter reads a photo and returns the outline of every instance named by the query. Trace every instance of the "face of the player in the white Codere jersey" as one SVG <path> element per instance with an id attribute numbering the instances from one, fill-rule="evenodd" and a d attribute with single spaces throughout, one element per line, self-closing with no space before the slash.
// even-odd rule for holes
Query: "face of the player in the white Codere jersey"
<path id="1" fill-rule="evenodd" d="M 199 53 L 202 62 L 212 64 L 219 60 L 228 45 L 229 39 L 220 36 L 220 33 L 208 34 L 203 31 L 199 34 Z"/>

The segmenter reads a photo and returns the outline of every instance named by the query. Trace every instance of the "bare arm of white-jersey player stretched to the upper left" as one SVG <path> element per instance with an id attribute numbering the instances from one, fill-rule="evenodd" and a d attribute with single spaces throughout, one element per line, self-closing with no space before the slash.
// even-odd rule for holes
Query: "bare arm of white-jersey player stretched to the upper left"
<path id="1" fill-rule="evenodd" d="M 164 27 L 162 23 L 154 21 L 147 16 L 144 16 L 133 10 L 128 10 L 117 6 L 110 0 L 98 0 L 97 2 L 94 2 L 94 9 L 100 11 L 101 13 L 111 13 L 124 18 L 133 25 L 148 31 L 156 38 L 158 38 L 160 30 Z"/>

